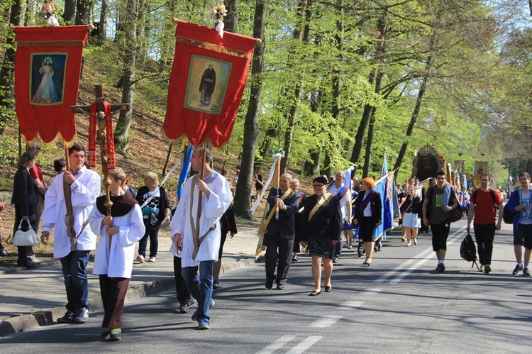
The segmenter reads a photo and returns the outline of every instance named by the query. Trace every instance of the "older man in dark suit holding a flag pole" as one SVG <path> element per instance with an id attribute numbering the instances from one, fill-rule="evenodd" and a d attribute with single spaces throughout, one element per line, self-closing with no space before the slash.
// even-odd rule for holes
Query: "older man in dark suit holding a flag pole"
<path id="1" fill-rule="evenodd" d="M 277 289 L 284 289 L 287 283 L 292 250 L 294 249 L 295 215 L 299 208 L 299 194 L 290 189 L 292 175 L 284 173 L 279 179 L 279 188 L 270 189 L 268 196 L 268 218 L 270 222 L 264 236 L 266 246 L 266 284 L 272 289 L 273 282 Z M 277 265 L 277 275 L 275 267 Z"/>

